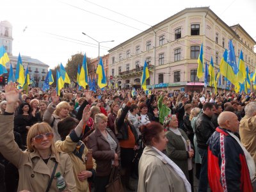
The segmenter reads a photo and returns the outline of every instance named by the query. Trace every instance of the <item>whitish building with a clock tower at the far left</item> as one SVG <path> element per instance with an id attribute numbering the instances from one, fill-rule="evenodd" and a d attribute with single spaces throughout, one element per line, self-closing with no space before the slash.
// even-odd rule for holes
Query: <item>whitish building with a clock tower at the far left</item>
<path id="1" fill-rule="evenodd" d="M 13 72 L 15 72 L 15 68 L 17 65 L 17 56 L 13 56 L 12 54 L 12 24 L 10 22 L 4 20 L 0 22 L 0 46 L 4 45 L 6 52 L 10 58 L 10 63 L 12 63 Z M 28 67 L 29 76 L 32 80 L 31 86 L 42 87 L 44 84 L 45 77 L 47 75 L 47 71 L 49 65 L 46 65 L 42 61 L 33 59 L 29 56 L 21 56 L 22 65 L 24 67 L 24 71 Z M 10 68 L 10 63 L 6 63 L 7 70 Z M 3 74 L 4 77 L 8 77 L 8 74 Z"/>

